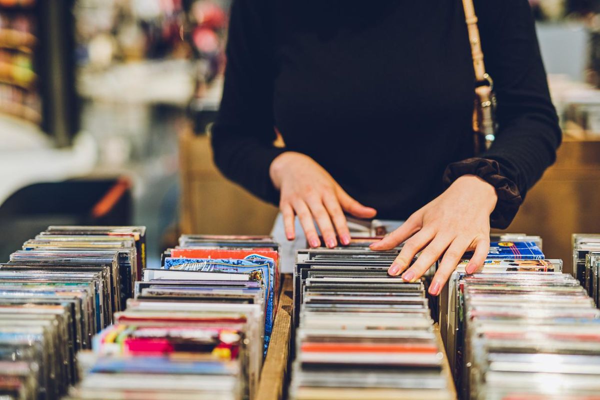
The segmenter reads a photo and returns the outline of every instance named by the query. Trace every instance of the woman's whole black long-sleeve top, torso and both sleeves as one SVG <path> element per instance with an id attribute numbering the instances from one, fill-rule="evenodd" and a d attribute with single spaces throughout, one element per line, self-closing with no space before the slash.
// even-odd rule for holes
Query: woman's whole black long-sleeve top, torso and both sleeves
<path id="1" fill-rule="evenodd" d="M 561 133 L 527 0 L 475 0 L 475 10 L 499 122 L 478 158 L 461 0 L 234 0 L 212 128 L 218 168 L 277 204 L 269 166 L 301 152 L 392 219 L 475 173 L 496 186 L 492 225 L 505 227 Z M 275 128 L 285 149 L 272 144 Z"/>

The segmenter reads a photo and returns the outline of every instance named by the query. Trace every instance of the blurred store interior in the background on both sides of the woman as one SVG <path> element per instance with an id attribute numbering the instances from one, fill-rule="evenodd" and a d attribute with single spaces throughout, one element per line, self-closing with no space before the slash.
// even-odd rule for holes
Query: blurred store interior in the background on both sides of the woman
<path id="1" fill-rule="evenodd" d="M 268 232 L 206 137 L 230 1 L 0 0 L 0 258 L 50 224 L 146 225 L 157 265 L 182 232 Z M 530 4 L 565 140 L 508 230 L 569 259 L 600 225 L 600 0 Z"/>

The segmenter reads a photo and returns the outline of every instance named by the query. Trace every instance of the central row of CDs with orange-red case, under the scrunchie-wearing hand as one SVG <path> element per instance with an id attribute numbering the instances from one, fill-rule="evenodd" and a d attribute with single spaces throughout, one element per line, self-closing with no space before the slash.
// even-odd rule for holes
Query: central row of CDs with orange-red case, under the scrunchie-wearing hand
<path id="1" fill-rule="evenodd" d="M 396 255 L 299 252 L 290 398 L 454 398 L 423 283 L 387 274 Z"/>

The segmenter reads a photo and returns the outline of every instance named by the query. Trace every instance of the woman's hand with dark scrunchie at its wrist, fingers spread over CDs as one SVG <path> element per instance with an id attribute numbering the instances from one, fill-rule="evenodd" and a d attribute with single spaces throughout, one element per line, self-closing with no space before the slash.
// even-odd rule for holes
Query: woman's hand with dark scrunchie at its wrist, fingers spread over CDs
<path id="1" fill-rule="evenodd" d="M 464 175 L 436 199 L 413 213 L 400 228 L 373 243 L 373 250 L 388 250 L 406 240 L 389 267 L 389 275 L 403 273 L 414 282 L 442 257 L 429 293 L 437 296 L 464 252 L 475 250 L 466 267 L 472 273 L 483 265 L 490 248 L 490 214 L 496 207 L 494 187 L 475 175 Z"/>

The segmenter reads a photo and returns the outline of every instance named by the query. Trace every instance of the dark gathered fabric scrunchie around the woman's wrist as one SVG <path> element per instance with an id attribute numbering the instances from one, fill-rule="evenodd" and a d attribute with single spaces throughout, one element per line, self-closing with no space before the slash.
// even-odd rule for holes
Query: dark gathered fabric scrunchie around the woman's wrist
<path id="1" fill-rule="evenodd" d="M 507 228 L 517 215 L 519 207 L 523 203 L 523 197 L 521 197 L 517 185 L 500 174 L 498 162 L 487 158 L 469 158 L 452 163 L 446 167 L 443 182 L 446 186 L 450 186 L 452 182 L 463 175 L 479 176 L 496 188 L 498 201 L 490 215 L 490 225 L 493 228 Z"/>

